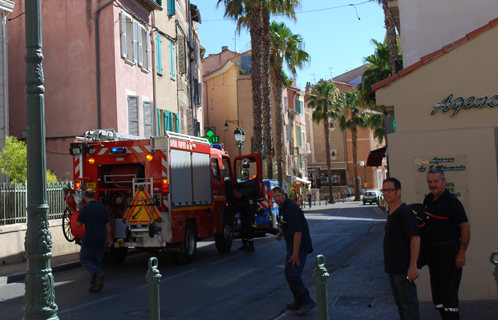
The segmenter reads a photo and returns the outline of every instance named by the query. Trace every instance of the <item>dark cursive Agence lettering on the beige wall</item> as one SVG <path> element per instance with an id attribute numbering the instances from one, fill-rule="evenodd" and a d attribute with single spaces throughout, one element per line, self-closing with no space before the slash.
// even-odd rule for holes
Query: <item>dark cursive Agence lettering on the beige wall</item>
<path id="1" fill-rule="evenodd" d="M 436 103 L 432 109 L 431 116 L 435 115 L 439 109 L 442 113 L 453 110 L 451 117 L 456 116 L 462 109 L 484 109 L 486 107 L 493 109 L 498 106 L 498 94 L 494 96 L 475 97 L 470 96 L 467 99 L 458 97 L 453 99 L 453 93 L 450 93 L 443 101 Z"/>

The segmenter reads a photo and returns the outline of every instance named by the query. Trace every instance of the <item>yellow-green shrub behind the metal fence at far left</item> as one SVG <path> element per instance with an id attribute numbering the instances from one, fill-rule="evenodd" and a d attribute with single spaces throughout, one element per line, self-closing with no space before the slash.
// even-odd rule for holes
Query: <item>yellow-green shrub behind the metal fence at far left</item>
<path id="1" fill-rule="evenodd" d="M 5 146 L 0 154 L 2 173 L 10 178 L 11 183 L 24 183 L 28 178 L 28 149 L 24 141 L 16 137 L 5 137 Z M 57 182 L 55 173 L 47 169 L 47 182 Z"/>

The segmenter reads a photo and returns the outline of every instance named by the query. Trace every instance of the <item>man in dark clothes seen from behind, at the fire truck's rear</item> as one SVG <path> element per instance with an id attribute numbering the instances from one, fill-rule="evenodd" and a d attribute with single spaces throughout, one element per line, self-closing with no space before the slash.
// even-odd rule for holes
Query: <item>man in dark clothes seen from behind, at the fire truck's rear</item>
<path id="1" fill-rule="evenodd" d="M 105 274 L 102 271 L 106 245 L 111 246 L 111 225 L 106 208 L 95 201 L 92 189 L 83 192 L 86 204 L 81 208 L 77 219 L 78 227 L 85 225 L 85 235 L 81 244 L 80 262 L 92 275 L 90 292 L 100 292 L 104 287 Z"/>

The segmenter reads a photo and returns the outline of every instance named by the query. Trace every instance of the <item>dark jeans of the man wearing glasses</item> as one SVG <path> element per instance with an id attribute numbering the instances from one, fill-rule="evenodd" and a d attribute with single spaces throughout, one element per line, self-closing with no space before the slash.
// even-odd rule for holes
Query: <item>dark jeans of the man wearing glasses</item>
<path id="1" fill-rule="evenodd" d="M 401 320 L 419 320 L 417 286 L 410 282 L 405 274 L 389 274 L 394 301 L 398 306 Z"/>

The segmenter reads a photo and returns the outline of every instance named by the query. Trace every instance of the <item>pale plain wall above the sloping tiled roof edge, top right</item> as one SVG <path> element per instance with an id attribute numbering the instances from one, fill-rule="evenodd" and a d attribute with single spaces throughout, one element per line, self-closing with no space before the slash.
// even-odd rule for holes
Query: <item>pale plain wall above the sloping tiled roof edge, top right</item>
<path id="1" fill-rule="evenodd" d="M 454 42 L 498 17 L 496 0 L 397 0 L 403 65 Z M 417 13 L 417 14 L 414 14 Z"/>

